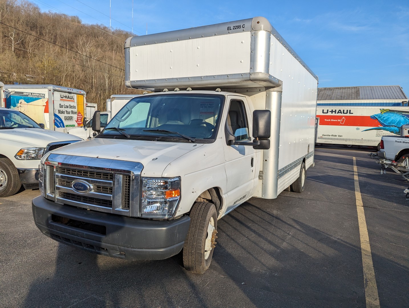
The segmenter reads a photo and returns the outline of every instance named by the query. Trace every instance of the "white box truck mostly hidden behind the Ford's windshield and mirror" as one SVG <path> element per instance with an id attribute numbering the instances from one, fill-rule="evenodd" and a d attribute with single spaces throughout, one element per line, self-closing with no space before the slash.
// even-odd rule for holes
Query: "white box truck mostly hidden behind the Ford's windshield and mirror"
<path id="1" fill-rule="evenodd" d="M 139 96 L 140 94 L 114 94 L 111 95 L 109 99 L 106 100 L 106 111 L 102 111 L 100 114 L 100 123 L 101 127 L 105 127 L 112 117 L 115 116 L 122 107 L 128 103 L 134 97 Z M 94 104 L 97 105 L 97 104 Z M 92 112 L 94 115 L 94 112 Z M 92 116 L 91 119 L 87 119 L 82 127 L 73 128 L 69 134 L 76 135 L 82 139 L 88 139 L 94 136 L 96 132 L 92 130 Z"/>

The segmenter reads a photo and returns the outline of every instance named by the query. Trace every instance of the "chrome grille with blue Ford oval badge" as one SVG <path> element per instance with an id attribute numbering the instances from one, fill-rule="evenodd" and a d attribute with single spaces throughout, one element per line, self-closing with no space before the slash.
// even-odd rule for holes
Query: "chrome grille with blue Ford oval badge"
<path id="1" fill-rule="evenodd" d="M 143 165 L 97 157 L 50 154 L 45 198 L 94 211 L 139 217 Z M 75 189 L 74 189 L 75 187 Z"/>

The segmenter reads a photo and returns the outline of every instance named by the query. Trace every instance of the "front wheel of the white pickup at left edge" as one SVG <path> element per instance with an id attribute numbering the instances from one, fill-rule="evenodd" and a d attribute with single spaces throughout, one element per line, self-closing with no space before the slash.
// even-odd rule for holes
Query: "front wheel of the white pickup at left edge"
<path id="1" fill-rule="evenodd" d="M 14 195 L 20 187 L 16 167 L 8 158 L 0 158 L 0 198 Z"/>

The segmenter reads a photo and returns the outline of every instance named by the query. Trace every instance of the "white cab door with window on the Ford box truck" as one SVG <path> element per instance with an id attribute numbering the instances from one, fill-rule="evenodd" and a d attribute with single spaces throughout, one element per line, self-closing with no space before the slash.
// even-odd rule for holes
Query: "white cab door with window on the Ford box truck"
<path id="1" fill-rule="evenodd" d="M 251 142 L 250 127 L 252 118 L 243 97 L 229 97 L 229 109 L 225 127 L 236 136 L 236 141 Z M 225 171 L 227 175 L 228 202 L 230 211 L 242 200 L 248 199 L 253 186 L 256 166 L 256 150 L 252 146 L 229 146 L 224 143 Z"/>

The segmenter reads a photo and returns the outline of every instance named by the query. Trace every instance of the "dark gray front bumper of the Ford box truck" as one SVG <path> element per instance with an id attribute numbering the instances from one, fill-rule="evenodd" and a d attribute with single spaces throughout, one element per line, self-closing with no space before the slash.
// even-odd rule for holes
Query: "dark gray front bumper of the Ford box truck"
<path id="1" fill-rule="evenodd" d="M 88 252 L 127 260 L 166 259 L 178 254 L 190 225 L 189 216 L 146 220 L 79 209 L 38 196 L 34 222 L 46 236 Z"/>

